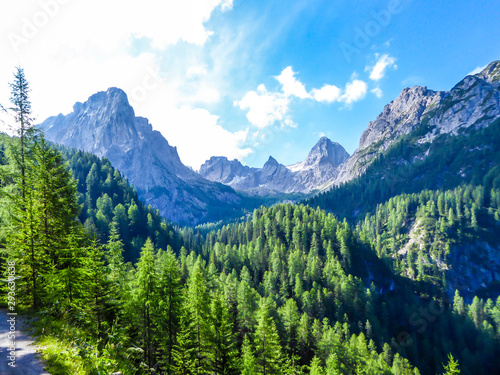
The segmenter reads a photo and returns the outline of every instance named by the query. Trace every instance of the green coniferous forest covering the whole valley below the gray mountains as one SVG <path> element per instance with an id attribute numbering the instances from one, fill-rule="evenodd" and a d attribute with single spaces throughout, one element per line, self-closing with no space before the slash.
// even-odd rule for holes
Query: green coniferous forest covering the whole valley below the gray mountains
<path id="1" fill-rule="evenodd" d="M 462 287 L 500 242 L 491 162 L 463 183 L 409 191 L 361 177 L 181 228 L 108 160 L 46 141 L 21 68 L 11 93 L 0 250 L 17 279 L 3 304 L 33 318 L 51 373 L 499 371 L 500 286 Z"/>

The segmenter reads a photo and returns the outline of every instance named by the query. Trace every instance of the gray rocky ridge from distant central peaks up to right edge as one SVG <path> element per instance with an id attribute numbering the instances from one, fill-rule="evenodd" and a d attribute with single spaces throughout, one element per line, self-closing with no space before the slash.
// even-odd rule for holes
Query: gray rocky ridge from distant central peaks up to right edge
<path id="1" fill-rule="evenodd" d="M 236 190 L 261 194 L 325 191 L 363 175 L 379 155 L 422 124 L 427 128 L 421 131 L 418 143 L 431 143 L 439 134 L 456 135 L 461 129 L 488 126 L 500 117 L 499 85 L 500 62 L 495 61 L 482 72 L 465 77 L 450 91 L 433 91 L 422 86 L 405 88 L 368 124 L 358 149 L 350 157 L 338 143 L 323 137 L 305 161 L 291 166 L 276 165 L 270 158 L 262 169 L 243 170 L 237 160 L 220 158 L 217 164 L 212 159 L 205 162 L 200 174 Z M 329 159 L 328 155 L 335 158 Z M 214 170 L 222 164 L 225 170 L 232 171 L 227 175 L 232 178 L 217 178 Z"/>

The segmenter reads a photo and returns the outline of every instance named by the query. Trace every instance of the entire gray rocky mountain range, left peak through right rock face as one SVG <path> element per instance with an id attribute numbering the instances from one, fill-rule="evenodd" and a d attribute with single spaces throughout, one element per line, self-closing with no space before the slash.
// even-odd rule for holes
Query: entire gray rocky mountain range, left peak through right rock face
<path id="1" fill-rule="evenodd" d="M 72 113 L 50 117 L 41 127 L 55 143 L 108 158 L 164 217 L 199 224 L 227 218 L 228 212 L 241 215 L 261 203 L 249 196 L 311 194 L 351 181 L 405 135 L 412 134 L 414 144 L 430 147 L 439 135 L 487 127 L 500 118 L 499 85 L 497 61 L 450 91 L 405 88 L 368 124 L 352 156 L 323 137 L 304 161 L 290 166 L 269 157 L 262 168 L 251 168 L 218 156 L 197 173 L 181 162 L 177 149 L 147 119 L 135 116 L 126 94 L 117 88 L 76 103 Z M 427 152 L 413 161 L 425 159 Z"/>

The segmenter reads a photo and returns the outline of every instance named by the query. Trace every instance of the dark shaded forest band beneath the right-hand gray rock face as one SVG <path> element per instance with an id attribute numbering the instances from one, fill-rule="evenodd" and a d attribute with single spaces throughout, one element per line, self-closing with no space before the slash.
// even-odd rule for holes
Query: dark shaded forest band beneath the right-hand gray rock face
<path id="1" fill-rule="evenodd" d="M 360 177 L 305 201 L 350 221 L 374 212 L 378 204 L 403 193 L 453 189 L 462 184 L 500 187 L 500 121 L 479 130 L 441 134 L 416 142 L 431 131 L 421 123 L 380 153 Z M 376 145 L 366 152 L 377 152 Z"/>

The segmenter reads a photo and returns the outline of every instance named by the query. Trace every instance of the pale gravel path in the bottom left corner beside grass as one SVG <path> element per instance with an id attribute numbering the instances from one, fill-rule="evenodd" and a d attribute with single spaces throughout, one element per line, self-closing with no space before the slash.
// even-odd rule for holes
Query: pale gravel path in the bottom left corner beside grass
<path id="1" fill-rule="evenodd" d="M 9 366 L 12 363 L 9 349 L 9 333 L 11 321 L 15 318 L 16 332 L 16 350 L 15 366 Z M 20 316 L 7 315 L 7 311 L 0 310 L 0 375 L 50 375 L 43 370 L 43 363 L 36 353 L 36 346 L 33 339 L 21 331 L 23 327 L 23 318 Z"/>

